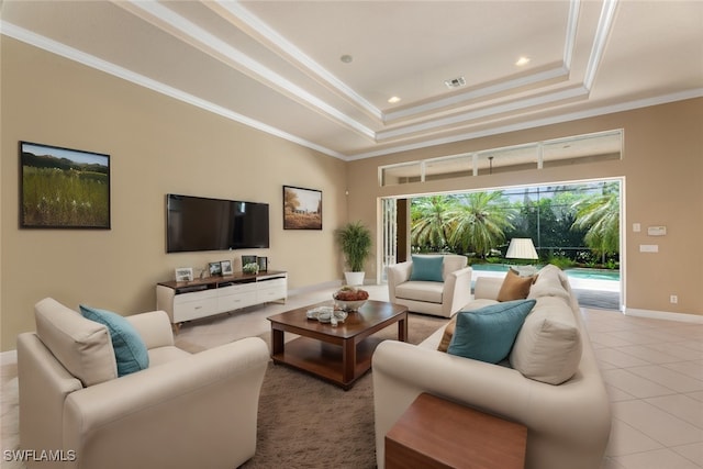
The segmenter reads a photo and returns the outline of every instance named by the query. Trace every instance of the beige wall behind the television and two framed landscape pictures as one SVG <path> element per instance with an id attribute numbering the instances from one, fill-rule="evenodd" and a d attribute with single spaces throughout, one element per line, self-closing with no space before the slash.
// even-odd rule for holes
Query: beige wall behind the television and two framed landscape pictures
<path id="1" fill-rule="evenodd" d="M 2 350 L 34 330 L 44 297 L 147 311 L 180 266 L 257 254 L 291 289 L 342 278 L 332 233 L 346 221 L 346 163 L 1 37 Z M 20 230 L 19 141 L 109 154 L 112 230 Z M 322 190 L 322 231 L 283 231 L 283 185 Z M 168 192 L 269 203 L 270 249 L 166 254 Z"/>

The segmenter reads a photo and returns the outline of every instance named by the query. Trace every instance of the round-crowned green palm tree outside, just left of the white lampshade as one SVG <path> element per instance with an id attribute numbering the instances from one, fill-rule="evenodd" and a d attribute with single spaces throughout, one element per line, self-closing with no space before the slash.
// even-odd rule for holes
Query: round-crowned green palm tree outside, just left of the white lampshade
<path id="1" fill-rule="evenodd" d="M 505 242 L 504 232 L 513 227 L 513 216 L 514 209 L 510 208 L 503 191 L 458 196 L 447 215 L 453 230 L 449 244 L 462 253 L 486 257 L 491 248 Z"/>

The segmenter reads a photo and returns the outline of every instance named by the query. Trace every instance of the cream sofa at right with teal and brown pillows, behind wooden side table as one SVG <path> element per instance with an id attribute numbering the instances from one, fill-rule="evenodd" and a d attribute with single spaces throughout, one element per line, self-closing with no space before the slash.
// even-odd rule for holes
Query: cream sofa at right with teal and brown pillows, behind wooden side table
<path id="1" fill-rule="evenodd" d="M 476 300 L 464 310 L 496 303 L 492 299 L 502 281 L 479 278 Z M 438 351 L 444 326 L 419 346 L 379 344 L 372 358 L 379 469 L 384 435 L 422 392 L 525 425 L 528 469 L 600 467 L 611 429 L 610 401 L 566 275 L 545 267 L 528 298 L 536 304 L 510 360 L 498 365 Z"/>

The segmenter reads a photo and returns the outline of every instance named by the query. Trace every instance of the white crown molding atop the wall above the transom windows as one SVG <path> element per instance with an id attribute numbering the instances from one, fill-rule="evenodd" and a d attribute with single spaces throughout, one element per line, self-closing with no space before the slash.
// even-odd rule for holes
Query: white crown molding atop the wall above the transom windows
<path id="1" fill-rule="evenodd" d="M 484 131 L 469 132 L 469 133 L 465 133 L 465 134 L 460 134 L 460 135 L 453 135 L 453 136 L 448 136 L 448 137 L 435 138 L 433 141 L 424 141 L 424 142 L 420 142 L 420 143 L 397 145 L 397 146 L 387 147 L 387 148 L 382 148 L 382 149 L 378 149 L 378 150 L 371 150 L 371 152 L 365 152 L 365 153 L 359 153 L 359 154 L 355 154 L 355 155 L 349 155 L 345 159 L 347 161 L 353 161 L 353 160 L 356 160 L 356 159 L 375 158 L 375 157 L 378 157 L 378 156 L 390 155 L 390 154 L 393 154 L 393 153 L 410 152 L 410 150 L 414 150 L 414 149 L 422 149 L 422 148 L 427 148 L 427 147 L 432 147 L 432 146 L 438 146 L 438 145 L 445 145 L 445 144 L 450 144 L 450 143 L 456 143 L 456 142 L 461 142 L 461 141 L 469 141 L 469 139 L 473 139 L 473 138 L 480 138 L 480 137 L 484 137 L 484 136 L 504 134 L 504 133 L 507 133 L 507 132 L 524 131 L 524 130 L 527 130 L 527 129 L 542 127 L 542 126 L 545 126 L 545 125 L 560 124 L 560 123 L 563 123 L 563 122 L 578 121 L 580 119 L 588 119 L 588 118 L 595 118 L 595 116 L 599 116 L 599 115 L 614 114 L 616 112 L 632 111 L 632 110 L 635 110 L 635 109 L 648 108 L 648 107 L 658 105 L 658 104 L 667 104 L 667 103 L 670 103 L 670 102 L 683 101 L 683 100 L 687 100 L 687 99 L 695 99 L 695 98 L 703 98 L 703 88 L 698 88 L 698 89 L 688 90 L 688 91 L 681 91 L 681 92 L 672 93 L 672 94 L 665 94 L 665 96 L 659 96 L 659 97 L 654 97 L 654 98 L 647 98 L 647 99 L 641 99 L 641 100 L 636 100 L 636 101 L 627 101 L 627 102 L 623 102 L 623 103 L 620 103 L 620 104 L 606 105 L 606 107 L 602 107 L 602 108 L 594 108 L 594 109 L 591 109 L 591 110 L 588 110 L 588 111 L 580 111 L 580 112 L 572 112 L 572 113 L 568 113 L 568 114 L 560 114 L 560 115 L 556 115 L 556 116 L 553 116 L 553 118 L 536 119 L 536 120 L 532 120 L 532 121 L 527 121 L 527 122 L 521 122 L 521 123 L 516 123 L 516 124 L 503 125 L 501 127 L 492 127 L 492 129 L 484 130 Z"/>

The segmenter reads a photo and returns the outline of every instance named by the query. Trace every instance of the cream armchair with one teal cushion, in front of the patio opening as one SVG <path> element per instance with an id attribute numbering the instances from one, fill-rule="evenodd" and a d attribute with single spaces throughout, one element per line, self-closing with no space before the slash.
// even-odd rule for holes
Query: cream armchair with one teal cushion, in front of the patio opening
<path id="1" fill-rule="evenodd" d="M 434 280 L 424 276 L 413 276 L 413 261 L 389 266 L 388 298 L 391 303 L 408 306 L 416 313 L 451 317 L 471 301 L 471 267 L 467 267 L 466 256 L 415 255 L 416 261 L 432 261 L 442 258 L 440 271 Z M 419 266 L 415 268 L 417 269 Z M 423 270 L 426 272 L 425 266 Z"/>

